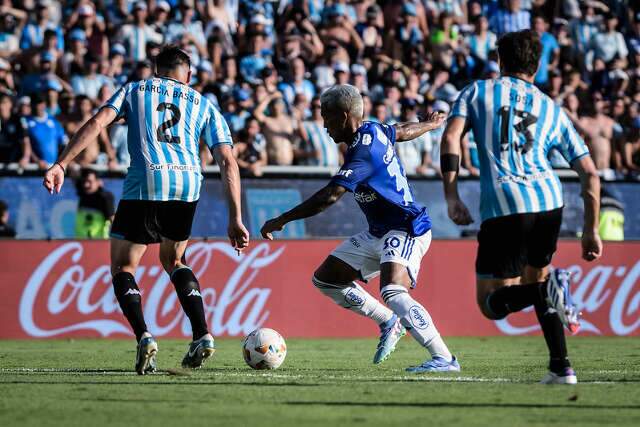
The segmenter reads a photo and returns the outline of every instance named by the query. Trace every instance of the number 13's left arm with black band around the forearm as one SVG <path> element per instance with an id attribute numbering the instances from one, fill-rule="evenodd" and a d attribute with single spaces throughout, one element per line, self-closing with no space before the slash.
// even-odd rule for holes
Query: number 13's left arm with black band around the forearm
<path id="1" fill-rule="evenodd" d="M 450 119 L 442 136 L 440 154 L 442 183 L 444 184 L 444 195 L 447 200 L 449 218 L 458 225 L 468 225 L 473 222 L 469 209 L 467 209 L 458 194 L 458 171 L 464 133 L 465 119 L 462 117 Z"/>

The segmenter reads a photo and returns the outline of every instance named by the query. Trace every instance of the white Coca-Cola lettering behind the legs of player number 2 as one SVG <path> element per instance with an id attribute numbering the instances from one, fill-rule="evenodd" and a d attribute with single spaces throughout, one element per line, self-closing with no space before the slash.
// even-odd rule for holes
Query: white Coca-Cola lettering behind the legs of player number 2
<path id="1" fill-rule="evenodd" d="M 227 258 L 227 263 L 229 260 L 236 263 L 228 277 L 216 281 L 216 288 L 203 286 L 201 289 L 212 334 L 246 335 L 265 323 L 270 314 L 267 302 L 271 289 L 258 287 L 257 277 L 260 270 L 278 259 L 284 249 L 282 246 L 272 251 L 267 243 L 262 243 L 238 256 L 227 243 L 190 245 L 187 257 L 198 277 L 205 273 L 212 275 L 209 270 L 213 270 L 215 276 L 215 265 L 222 258 Z M 109 266 L 100 265 L 93 271 L 86 271 L 82 263 L 84 251 L 81 243 L 65 243 L 33 271 L 19 306 L 20 325 L 27 334 L 34 337 L 53 337 L 75 331 L 95 331 L 102 336 L 131 334 L 124 318 L 114 315 L 120 313 L 120 308 L 111 287 Z M 168 275 L 157 265 L 141 265 L 135 277 L 144 290 L 144 315 L 150 332 L 161 336 L 179 328 L 182 335 L 191 335 L 189 321 L 179 308 Z M 36 306 L 45 307 L 44 316 Z M 38 321 L 47 316 L 81 320 L 51 327 L 46 321 Z"/>

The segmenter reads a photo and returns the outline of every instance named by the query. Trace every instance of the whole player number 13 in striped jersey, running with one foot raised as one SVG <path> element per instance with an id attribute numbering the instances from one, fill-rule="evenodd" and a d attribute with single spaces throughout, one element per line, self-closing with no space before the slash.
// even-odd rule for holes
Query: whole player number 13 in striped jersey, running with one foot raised
<path id="1" fill-rule="evenodd" d="M 534 306 L 550 353 L 545 384 L 575 384 L 563 325 L 579 327 L 569 275 L 549 264 L 562 223 L 562 188 L 549 154 L 559 151 L 578 173 L 584 198 L 582 256 L 602 253 L 598 235 L 600 181 L 584 141 L 562 108 L 533 80 L 541 45 L 529 30 L 498 42 L 501 76 L 467 86 L 456 101 L 443 137 L 441 168 L 449 216 L 473 220 L 457 190 L 460 143 L 473 130 L 480 160 L 480 215 L 476 258 L 477 302 L 489 319 Z M 511 286 L 518 285 L 518 286 Z"/>

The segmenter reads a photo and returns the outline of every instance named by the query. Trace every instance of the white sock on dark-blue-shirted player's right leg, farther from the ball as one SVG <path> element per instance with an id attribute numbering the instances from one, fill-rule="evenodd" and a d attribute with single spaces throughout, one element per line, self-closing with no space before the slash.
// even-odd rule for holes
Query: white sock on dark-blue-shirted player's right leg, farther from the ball
<path id="1" fill-rule="evenodd" d="M 389 284 L 382 288 L 380 293 L 384 302 L 400 318 L 402 325 L 421 346 L 431 353 L 431 357 L 452 359 L 451 352 L 433 324 L 429 312 L 409 295 L 407 288 Z"/>

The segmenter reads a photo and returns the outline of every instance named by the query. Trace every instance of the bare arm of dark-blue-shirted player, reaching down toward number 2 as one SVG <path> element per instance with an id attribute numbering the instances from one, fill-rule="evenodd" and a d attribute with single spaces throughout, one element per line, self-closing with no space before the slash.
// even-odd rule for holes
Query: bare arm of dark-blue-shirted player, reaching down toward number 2
<path id="1" fill-rule="evenodd" d="M 320 191 L 300 203 L 295 208 L 280 215 L 277 218 L 265 222 L 260 233 L 265 239 L 273 240 L 273 232 L 281 231 L 284 226 L 298 219 L 309 218 L 333 205 L 347 192 L 347 189 L 340 185 L 329 184 Z"/>

